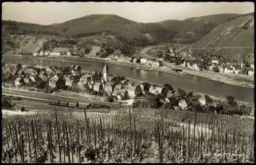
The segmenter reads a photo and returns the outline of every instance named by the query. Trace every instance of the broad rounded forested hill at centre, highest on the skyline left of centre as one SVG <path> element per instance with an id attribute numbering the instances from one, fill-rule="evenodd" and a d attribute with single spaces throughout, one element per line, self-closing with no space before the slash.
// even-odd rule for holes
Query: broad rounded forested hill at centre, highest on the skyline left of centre
<path id="1" fill-rule="evenodd" d="M 138 23 L 109 14 L 88 15 L 55 24 L 48 29 L 69 37 L 82 37 L 106 32 L 127 43 L 141 46 L 152 43 L 143 34 L 150 34 L 155 41 L 171 39 L 175 34 L 159 23 Z"/>

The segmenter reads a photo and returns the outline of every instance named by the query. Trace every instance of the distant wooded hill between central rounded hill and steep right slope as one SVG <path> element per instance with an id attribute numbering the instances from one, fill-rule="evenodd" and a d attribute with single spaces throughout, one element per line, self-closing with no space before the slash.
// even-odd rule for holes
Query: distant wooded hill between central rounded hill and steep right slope
<path id="1" fill-rule="evenodd" d="M 221 23 L 241 16 L 240 14 L 216 14 L 202 17 L 187 18 L 184 20 L 164 20 L 159 22 L 166 29 L 177 32 L 173 41 L 193 43 L 208 34 Z"/>

